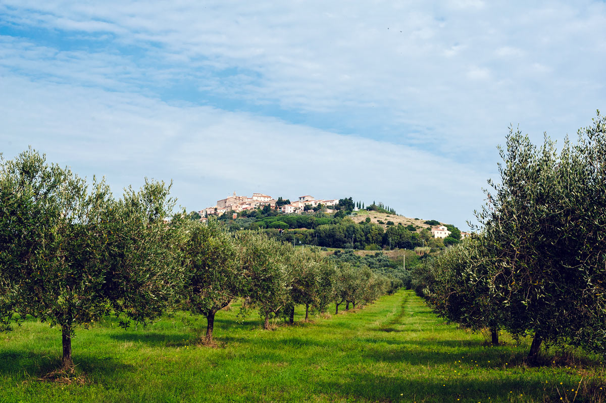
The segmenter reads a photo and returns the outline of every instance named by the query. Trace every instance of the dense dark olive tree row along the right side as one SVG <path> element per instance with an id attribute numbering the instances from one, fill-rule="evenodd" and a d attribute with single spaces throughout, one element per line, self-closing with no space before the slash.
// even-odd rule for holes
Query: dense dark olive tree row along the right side
<path id="1" fill-rule="evenodd" d="M 419 267 L 418 291 L 452 321 L 532 335 L 531 363 L 543 343 L 604 355 L 606 118 L 560 152 L 511 130 L 501 156 L 479 236 Z"/>

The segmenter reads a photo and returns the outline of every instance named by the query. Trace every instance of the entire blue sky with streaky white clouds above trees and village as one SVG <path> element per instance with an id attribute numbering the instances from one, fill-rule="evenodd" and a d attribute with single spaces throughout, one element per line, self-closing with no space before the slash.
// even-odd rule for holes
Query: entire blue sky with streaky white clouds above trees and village
<path id="1" fill-rule="evenodd" d="M 604 1 L 0 0 L 0 152 L 465 230 L 508 127 L 574 138 L 605 65 Z"/>

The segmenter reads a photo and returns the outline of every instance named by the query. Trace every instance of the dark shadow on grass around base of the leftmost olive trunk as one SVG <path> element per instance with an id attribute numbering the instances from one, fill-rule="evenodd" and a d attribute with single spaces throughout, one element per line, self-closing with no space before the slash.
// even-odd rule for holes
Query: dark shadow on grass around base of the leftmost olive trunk
<path id="1" fill-rule="evenodd" d="M 114 376 L 116 372 L 132 372 L 135 368 L 124 362 L 116 361 L 111 356 L 98 356 L 90 354 L 73 354 L 76 370 L 84 374 Z M 18 380 L 39 380 L 48 373 L 61 368 L 61 356 L 33 353 L 24 350 L 0 351 L 0 374 Z M 25 378 L 25 379 L 24 379 Z"/>

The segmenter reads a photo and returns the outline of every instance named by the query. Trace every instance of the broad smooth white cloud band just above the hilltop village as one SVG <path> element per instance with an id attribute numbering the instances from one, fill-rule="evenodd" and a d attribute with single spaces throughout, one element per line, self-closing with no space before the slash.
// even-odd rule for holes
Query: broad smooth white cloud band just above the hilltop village
<path id="1" fill-rule="evenodd" d="M 32 145 L 80 175 L 105 175 L 115 193 L 144 176 L 173 178 L 189 210 L 233 190 L 310 193 L 464 225 L 482 200 L 471 165 L 404 145 L 93 88 L 10 78 L 0 91 L 5 158 Z"/>

